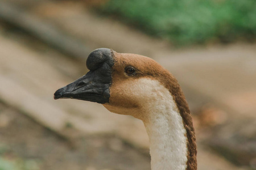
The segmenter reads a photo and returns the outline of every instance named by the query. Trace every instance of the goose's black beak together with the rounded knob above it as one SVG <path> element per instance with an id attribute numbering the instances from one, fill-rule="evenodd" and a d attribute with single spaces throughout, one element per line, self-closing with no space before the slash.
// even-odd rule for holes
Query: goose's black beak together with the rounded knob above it
<path id="1" fill-rule="evenodd" d="M 94 50 L 86 60 L 86 66 L 90 71 L 75 82 L 57 90 L 54 99 L 70 98 L 108 103 L 113 65 L 112 50 L 107 48 Z"/>

